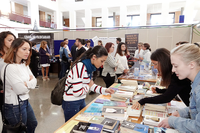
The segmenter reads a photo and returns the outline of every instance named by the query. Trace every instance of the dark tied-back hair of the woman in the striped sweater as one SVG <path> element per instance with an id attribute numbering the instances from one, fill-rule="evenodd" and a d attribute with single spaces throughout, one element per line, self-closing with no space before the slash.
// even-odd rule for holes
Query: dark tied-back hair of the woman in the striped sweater
<path id="1" fill-rule="evenodd" d="M 108 56 L 108 52 L 103 46 L 97 45 L 82 53 L 80 57 L 73 62 L 73 65 L 84 59 L 91 59 L 93 55 L 96 55 L 97 58 L 100 58 L 102 56 Z"/>

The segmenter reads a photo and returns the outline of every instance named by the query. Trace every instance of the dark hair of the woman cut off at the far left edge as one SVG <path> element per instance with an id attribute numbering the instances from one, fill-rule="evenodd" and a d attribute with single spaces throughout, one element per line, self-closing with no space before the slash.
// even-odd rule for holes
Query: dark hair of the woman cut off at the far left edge
<path id="1" fill-rule="evenodd" d="M 5 51 L 4 51 L 4 46 L 5 46 L 4 39 L 8 35 L 12 35 L 16 39 L 16 36 L 10 31 L 3 31 L 3 32 L 0 33 L 0 52 L 2 52 L 2 54 L 0 56 L 3 56 L 5 54 Z"/>

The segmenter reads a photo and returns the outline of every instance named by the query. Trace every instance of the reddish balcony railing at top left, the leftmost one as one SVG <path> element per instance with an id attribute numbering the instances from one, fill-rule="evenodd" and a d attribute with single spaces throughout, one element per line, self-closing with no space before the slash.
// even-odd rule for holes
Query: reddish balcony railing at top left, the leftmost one
<path id="1" fill-rule="evenodd" d="M 9 19 L 11 21 L 17 21 L 20 23 L 24 23 L 24 24 L 31 24 L 31 18 L 25 15 L 21 15 L 21 14 L 17 14 L 17 13 L 10 13 L 9 14 Z"/>

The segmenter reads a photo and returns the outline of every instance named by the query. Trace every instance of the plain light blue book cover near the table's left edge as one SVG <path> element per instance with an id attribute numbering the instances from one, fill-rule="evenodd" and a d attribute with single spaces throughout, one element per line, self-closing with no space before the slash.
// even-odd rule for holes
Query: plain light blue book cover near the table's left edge
<path id="1" fill-rule="evenodd" d="M 84 113 L 101 113 L 103 108 L 103 104 L 92 103 Z"/>

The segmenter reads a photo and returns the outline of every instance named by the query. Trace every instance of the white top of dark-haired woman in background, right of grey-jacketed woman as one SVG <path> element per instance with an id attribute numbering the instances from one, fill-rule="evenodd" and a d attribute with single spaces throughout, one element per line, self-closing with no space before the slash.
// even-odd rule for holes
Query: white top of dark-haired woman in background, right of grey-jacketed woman
<path id="1" fill-rule="evenodd" d="M 115 56 L 115 60 L 118 64 L 116 74 L 121 74 L 124 72 L 125 69 L 129 69 L 128 67 L 128 60 L 125 55 L 120 56 L 118 53 Z"/>

